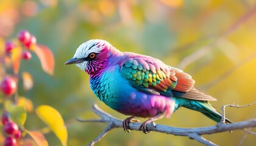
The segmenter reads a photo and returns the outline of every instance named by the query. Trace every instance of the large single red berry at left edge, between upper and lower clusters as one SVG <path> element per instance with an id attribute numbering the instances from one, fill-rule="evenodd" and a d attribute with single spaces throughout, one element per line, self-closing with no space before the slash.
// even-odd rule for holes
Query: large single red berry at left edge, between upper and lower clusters
<path id="1" fill-rule="evenodd" d="M 10 96 L 16 91 L 16 82 L 11 77 L 5 77 L 0 85 L 1 91 L 5 96 Z"/>

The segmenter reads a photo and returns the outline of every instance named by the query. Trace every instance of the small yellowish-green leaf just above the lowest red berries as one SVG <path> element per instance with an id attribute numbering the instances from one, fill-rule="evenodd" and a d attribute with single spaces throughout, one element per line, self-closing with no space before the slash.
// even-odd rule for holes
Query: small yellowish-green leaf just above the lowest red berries
<path id="1" fill-rule="evenodd" d="M 10 113 L 10 118 L 12 121 L 18 124 L 20 127 L 23 127 L 27 118 L 26 108 L 23 105 L 11 105 L 7 110 Z"/>

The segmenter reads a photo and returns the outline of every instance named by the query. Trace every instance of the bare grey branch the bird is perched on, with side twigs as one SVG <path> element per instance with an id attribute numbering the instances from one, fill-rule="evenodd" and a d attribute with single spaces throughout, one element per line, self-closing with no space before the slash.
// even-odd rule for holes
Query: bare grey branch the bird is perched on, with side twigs
<path id="1" fill-rule="evenodd" d="M 250 103 L 248 105 L 224 105 L 222 106 L 222 117 L 225 116 L 225 108 L 226 106 L 230 107 L 236 107 L 236 108 L 242 108 L 246 106 L 250 106 L 254 103 Z M 108 127 L 105 128 L 102 133 L 96 137 L 93 141 L 90 142 L 88 145 L 94 145 L 97 142 L 99 142 L 107 133 L 108 131 L 112 130 L 113 128 L 123 128 L 123 120 L 117 119 L 116 117 L 111 116 L 110 114 L 106 113 L 102 109 L 98 107 L 98 105 L 93 105 L 93 111 L 94 113 L 98 114 L 98 116 L 101 117 L 101 119 L 89 119 L 89 120 L 82 120 L 82 119 L 77 119 L 79 122 L 102 122 L 102 123 L 107 123 Z M 235 123 L 230 123 L 230 124 L 225 124 L 224 123 L 224 118 L 222 118 L 221 122 L 219 122 L 217 125 L 210 126 L 210 127 L 199 127 L 199 128 L 179 128 L 179 127 L 169 127 L 166 125 L 160 125 L 157 124 L 155 127 L 151 126 L 151 124 L 148 124 L 147 130 L 148 131 L 155 131 L 159 133 L 166 133 L 166 134 L 172 134 L 175 136 L 187 136 L 190 139 L 194 139 L 198 142 L 201 142 L 204 145 L 216 145 L 213 142 L 208 141 L 207 139 L 204 139 L 201 135 L 204 134 L 213 134 L 213 133 L 221 133 L 224 131 L 232 131 L 232 130 L 243 130 L 244 128 L 254 128 L 256 127 L 256 119 L 251 119 L 251 120 L 245 120 L 241 122 L 235 122 Z M 140 131 L 141 123 L 135 123 L 131 122 L 129 123 L 129 129 L 130 130 L 136 130 Z M 247 130 L 247 133 L 254 134 L 254 132 Z"/>

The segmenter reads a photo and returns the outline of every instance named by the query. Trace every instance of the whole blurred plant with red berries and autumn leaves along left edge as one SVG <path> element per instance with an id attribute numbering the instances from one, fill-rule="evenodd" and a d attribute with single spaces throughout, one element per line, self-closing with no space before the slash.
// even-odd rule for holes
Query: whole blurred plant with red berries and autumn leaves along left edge
<path id="1" fill-rule="evenodd" d="M 23 81 L 23 89 L 25 92 L 31 89 L 34 84 L 33 78 L 29 72 L 23 71 L 22 74 L 19 74 L 21 60 L 29 60 L 32 57 L 30 52 L 34 52 L 35 55 L 37 55 L 43 71 L 50 75 L 54 73 L 54 55 L 47 46 L 37 44 L 35 36 L 27 30 L 21 30 L 18 32 L 16 38 L 11 41 L 5 41 L 3 50 L 4 52 L 0 54 L 0 128 L 3 133 L 0 133 L 0 140 L 2 140 L 0 146 L 34 145 L 34 143 L 38 145 L 48 144 L 43 136 L 43 132 L 30 132 L 24 127 L 26 114 L 34 109 L 32 100 L 19 96 L 18 82 L 20 82 L 20 80 Z M 49 106 L 40 107 L 37 109 L 43 108 L 44 110 L 37 110 L 38 112 L 36 112 L 36 114 L 43 121 L 44 119 L 48 120 L 51 118 L 52 115 L 49 115 L 49 117 L 41 115 L 44 111 L 49 113 L 49 111 L 55 109 Z M 2 116 L 1 113 L 3 113 Z M 52 121 L 50 125 L 59 126 L 59 123 L 63 123 L 61 117 L 58 117 L 56 122 Z M 52 127 L 49 128 L 52 129 Z M 63 130 L 65 130 L 65 134 L 67 134 L 66 127 L 63 127 Z M 62 130 L 55 130 L 54 133 L 61 131 Z M 30 137 L 27 137 L 27 135 Z M 58 134 L 56 135 L 58 136 Z M 64 138 L 58 136 L 58 138 L 62 143 L 66 142 L 66 136 L 64 136 Z"/>

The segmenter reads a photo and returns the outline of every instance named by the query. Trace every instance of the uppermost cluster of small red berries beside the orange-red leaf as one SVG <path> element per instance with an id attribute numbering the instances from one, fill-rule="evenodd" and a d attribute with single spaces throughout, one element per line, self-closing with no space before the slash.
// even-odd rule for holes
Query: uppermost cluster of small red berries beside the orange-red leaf
<path id="1" fill-rule="evenodd" d="M 35 44 L 37 44 L 37 38 L 30 34 L 27 30 L 21 30 L 17 36 L 18 40 L 25 46 L 28 50 L 32 49 Z M 5 52 L 10 54 L 13 49 L 15 49 L 16 44 L 13 41 L 6 41 Z M 21 58 L 24 60 L 29 60 L 32 57 L 29 51 L 23 50 Z"/>

